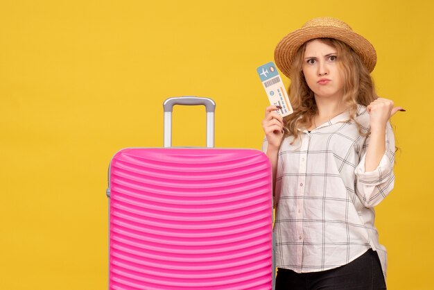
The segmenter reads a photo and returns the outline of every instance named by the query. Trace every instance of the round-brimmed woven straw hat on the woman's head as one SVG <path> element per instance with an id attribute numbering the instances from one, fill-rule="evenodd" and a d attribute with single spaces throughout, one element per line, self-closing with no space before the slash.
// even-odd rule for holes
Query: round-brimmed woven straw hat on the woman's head
<path id="1" fill-rule="evenodd" d="M 376 65 L 374 46 L 365 37 L 355 33 L 342 20 L 331 17 L 314 18 L 306 22 L 302 28 L 286 35 L 276 46 L 275 62 L 285 76 L 290 76 L 291 65 L 297 49 L 309 40 L 315 38 L 334 38 L 345 42 L 353 49 L 368 71 L 373 71 Z"/>

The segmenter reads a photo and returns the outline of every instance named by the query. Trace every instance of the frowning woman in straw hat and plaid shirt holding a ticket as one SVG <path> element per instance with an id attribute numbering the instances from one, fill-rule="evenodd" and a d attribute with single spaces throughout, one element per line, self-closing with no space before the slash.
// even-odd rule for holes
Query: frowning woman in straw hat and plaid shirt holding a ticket
<path id="1" fill-rule="evenodd" d="M 394 185 L 398 110 L 376 96 L 370 42 L 338 19 L 312 19 L 277 44 L 294 112 L 266 108 L 272 164 L 276 289 L 385 289 L 374 209 Z"/>

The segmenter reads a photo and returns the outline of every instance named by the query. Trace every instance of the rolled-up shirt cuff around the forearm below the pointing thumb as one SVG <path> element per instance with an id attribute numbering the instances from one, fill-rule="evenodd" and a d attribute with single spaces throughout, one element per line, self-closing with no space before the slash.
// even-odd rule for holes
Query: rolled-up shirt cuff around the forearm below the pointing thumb
<path id="1" fill-rule="evenodd" d="M 392 171 L 392 164 L 390 164 L 388 155 L 384 153 L 383 157 L 381 157 L 379 166 L 372 171 L 365 171 L 365 157 L 366 153 L 363 154 L 361 162 L 358 164 L 355 170 L 358 180 L 370 185 L 381 184 L 384 178 L 387 178 Z"/>

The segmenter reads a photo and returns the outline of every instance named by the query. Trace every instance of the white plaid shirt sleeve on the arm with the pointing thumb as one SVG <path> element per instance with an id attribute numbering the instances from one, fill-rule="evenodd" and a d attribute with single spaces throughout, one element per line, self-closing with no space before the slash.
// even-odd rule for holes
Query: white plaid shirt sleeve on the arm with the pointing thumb
<path id="1" fill-rule="evenodd" d="M 365 171 L 365 158 L 370 136 L 365 139 L 361 149 L 361 161 L 355 169 L 356 173 L 356 194 L 365 207 L 374 207 L 388 196 L 394 186 L 394 134 L 390 123 L 386 126 L 385 153 L 381 158 L 379 166 L 373 171 Z"/>

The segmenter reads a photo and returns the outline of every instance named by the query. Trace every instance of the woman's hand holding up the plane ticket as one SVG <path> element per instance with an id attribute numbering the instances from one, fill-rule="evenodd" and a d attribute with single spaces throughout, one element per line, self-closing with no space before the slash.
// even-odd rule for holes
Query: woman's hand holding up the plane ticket
<path id="1" fill-rule="evenodd" d="M 262 120 L 263 132 L 266 133 L 268 148 L 279 149 L 284 137 L 284 118 L 277 114 L 275 105 L 266 108 L 266 117 Z"/>

